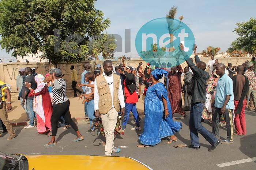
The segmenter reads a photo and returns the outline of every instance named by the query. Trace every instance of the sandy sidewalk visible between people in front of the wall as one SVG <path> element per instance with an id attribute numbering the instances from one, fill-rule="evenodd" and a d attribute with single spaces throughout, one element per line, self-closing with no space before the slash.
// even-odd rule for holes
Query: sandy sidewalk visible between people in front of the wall
<path id="1" fill-rule="evenodd" d="M 20 106 L 20 101 L 16 98 L 15 93 L 11 93 L 12 95 L 12 110 L 8 112 L 8 119 L 11 121 L 12 126 L 26 126 L 27 115 L 25 110 Z M 84 105 L 82 104 L 83 100 L 78 102 L 78 97 L 73 98 L 72 91 L 68 90 L 67 96 L 70 100 L 70 113 L 73 120 L 83 121 L 84 119 Z M 137 103 L 137 110 L 139 114 L 144 114 L 144 101 L 142 100 L 143 94 L 141 95 L 139 102 Z"/>

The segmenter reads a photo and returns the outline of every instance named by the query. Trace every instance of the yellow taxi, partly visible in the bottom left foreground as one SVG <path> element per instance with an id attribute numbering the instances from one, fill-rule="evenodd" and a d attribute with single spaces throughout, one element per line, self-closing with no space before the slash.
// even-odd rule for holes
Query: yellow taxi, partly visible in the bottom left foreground
<path id="1" fill-rule="evenodd" d="M 152 170 L 129 157 L 93 155 L 22 155 L 0 152 L 0 170 Z"/>

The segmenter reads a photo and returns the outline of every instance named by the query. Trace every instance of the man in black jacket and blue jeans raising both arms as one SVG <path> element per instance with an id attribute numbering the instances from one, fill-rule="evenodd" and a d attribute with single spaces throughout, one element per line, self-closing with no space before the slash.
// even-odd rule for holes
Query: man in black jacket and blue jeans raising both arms
<path id="1" fill-rule="evenodd" d="M 196 44 L 193 46 L 195 53 L 196 65 L 191 62 L 189 56 L 184 51 L 183 44 L 179 45 L 180 51 L 184 56 L 184 59 L 188 63 L 188 66 L 193 71 L 193 78 L 190 86 L 187 87 L 188 94 L 191 94 L 191 109 L 189 118 L 189 131 L 191 145 L 187 146 L 192 149 L 200 149 L 198 133 L 200 133 L 210 144 L 211 148 L 208 151 L 216 149 L 221 144 L 221 141 L 214 137 L 214 135 L 202 126 L 201 116 L 203 111 L 203 103 L 206 100 L 206 80 L 209 79 L 209 74 L 205 71 L 206 63 L 201 62 L 196 53 Z"/>

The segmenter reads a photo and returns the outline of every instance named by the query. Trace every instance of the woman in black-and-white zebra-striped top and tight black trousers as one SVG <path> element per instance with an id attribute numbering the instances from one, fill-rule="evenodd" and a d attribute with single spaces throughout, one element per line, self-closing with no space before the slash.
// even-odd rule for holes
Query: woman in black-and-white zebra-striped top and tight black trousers
<path id="1" fill-rule="evenodd" d="M 49 143 L 45 144 L 45 147 L 56 145 L 55 137 L 57 133 L 57 125 L 61 116 L 64 117 L 65 122 L 70 124 L 70 126 L 76 131 L 77 138 L 74 139 L 74 142 L 83 140 L 82 135 L 80 134 L 78 127 L 75 122 L 71 119 L 71 115 L 69 112 L 69 99 L 66 96 L 66 83 L 61 78 L 61 70 L 59 68 L 55 68 L 53 70 L 53 79 L 54 86 L 52 88 L 53 94 L 53 112 L 51 117 L 52 124 L 52 139 Z"/>

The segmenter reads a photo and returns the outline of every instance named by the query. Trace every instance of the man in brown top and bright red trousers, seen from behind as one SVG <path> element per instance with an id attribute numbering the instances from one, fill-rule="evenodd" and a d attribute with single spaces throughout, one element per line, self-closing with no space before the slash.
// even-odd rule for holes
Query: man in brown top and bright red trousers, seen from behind
<path id="1" fill-rule="evenodd" d="M 247 94 L 249 91 L 249 80 L 244 74 L 244 66 L 237 67 L 237 75 L 232 77 L 235 105 L 234 124 L 238 136 L 246 135 L 245 107 L 247 104 Z"/>

